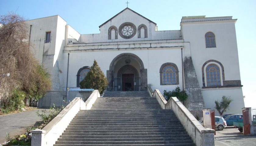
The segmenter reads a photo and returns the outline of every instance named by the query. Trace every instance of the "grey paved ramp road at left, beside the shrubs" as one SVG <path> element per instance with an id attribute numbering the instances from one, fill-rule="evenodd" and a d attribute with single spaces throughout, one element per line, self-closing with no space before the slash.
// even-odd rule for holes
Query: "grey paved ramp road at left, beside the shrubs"
<path id="1" fill-rule="evenodd" d="M 41 118 L 37 116 L 37 111 L 34 109 L 27 112 L 9 114 L 0 117 L 0 144 L 6 141 L 6 132 L 11 138 L 16 134 L 23 134 L 28 127 L 34 126 Z"/>

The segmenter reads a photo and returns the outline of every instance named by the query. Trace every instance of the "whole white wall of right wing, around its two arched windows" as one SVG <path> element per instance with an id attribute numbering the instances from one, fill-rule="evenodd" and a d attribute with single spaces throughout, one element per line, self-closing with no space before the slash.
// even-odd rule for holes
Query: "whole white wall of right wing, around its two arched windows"
<path id="1" fill-rule="evenodd" d="M 208 60 L 216 60 L 224 67 L 225 80 L 240 80 L 239 60 L 236 43 L 236 20 L 209 22 L 193 22 L 182 24 L 184 42 L 190 43 L 193 64 L 199 85 L 202 87 L 202 66 Z M 215 34 L 216 47 L 206 48 L 205 33 Z M 241 113 L 244 106 L 243 93 L 240 87 L 202 89 L 205 107 L 215 109 L 215 100 L 221 101 L 222 96 L 230 96 L 233 102 L 225 113 Z M 219 113 L 215 110 L 215 115 Z"/>

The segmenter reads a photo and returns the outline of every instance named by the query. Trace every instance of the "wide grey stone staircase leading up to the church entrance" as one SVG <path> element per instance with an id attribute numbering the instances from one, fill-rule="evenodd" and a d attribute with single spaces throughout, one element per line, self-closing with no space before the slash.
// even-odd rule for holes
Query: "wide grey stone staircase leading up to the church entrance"
<path id="1" fill-rule="evenodd" d="M 175 114 L 147 92 L 106 92 L 76 114 L 54 144 L 60 145 L 195 146 Z"/>

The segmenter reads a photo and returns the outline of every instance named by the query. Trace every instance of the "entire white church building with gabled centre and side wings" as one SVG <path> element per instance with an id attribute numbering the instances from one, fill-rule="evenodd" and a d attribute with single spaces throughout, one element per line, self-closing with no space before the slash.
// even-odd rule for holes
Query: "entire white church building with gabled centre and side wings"
<path id="1" fill-rule="evenodd" d="M 51 73 L 52 90 L 79 87 L 95 59 L 108 91 L 145 91 L 150 85 L 163 94 L 180 87 L 191 111 L 214 109 L 215 100 L 230 96 L 226 113 L 241 113 L 235 23 L 232 16 L 186 16 L 180 30 L 158 31 L 129 8 L 101 24 L 97 34 L 80 34 L 58 15 L 27 21 L 31 50 Z"/>

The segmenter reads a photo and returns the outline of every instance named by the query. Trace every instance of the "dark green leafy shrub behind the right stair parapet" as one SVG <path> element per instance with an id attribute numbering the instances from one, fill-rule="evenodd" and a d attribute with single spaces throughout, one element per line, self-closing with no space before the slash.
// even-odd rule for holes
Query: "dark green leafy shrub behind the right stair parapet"
<path id="1" fill-rule="evenodd" d="M 177 97 L 183 104 L 185 102 L 185 100 L 187 99 L 187 93 L 185 90 L 180 90 L 180 87 L 176 87 L 174 90 L 172 91 L 166 91 L 164 90 L 164 97 L 167 99 L 167 101 L 171 98 L 171 97 Z"/>

